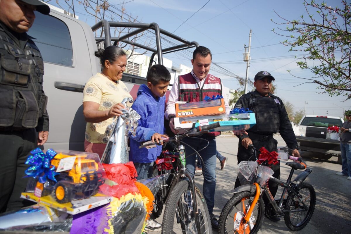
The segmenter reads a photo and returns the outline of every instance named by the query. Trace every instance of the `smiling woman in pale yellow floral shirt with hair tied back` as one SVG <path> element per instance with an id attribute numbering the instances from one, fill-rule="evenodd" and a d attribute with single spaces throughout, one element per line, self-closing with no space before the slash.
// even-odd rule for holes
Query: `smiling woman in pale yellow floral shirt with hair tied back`
<path id="1" fill-rule="evenodd" d="M 126 70 L 126 53 L 118 46 L 109 46 L 99 49 L 95 56 L 100 58 L 103 69 L 88 80 L 83 92 L 83 114 L 87 122 L 84 150 L 98 153 L 101 158 L 108 140 L 106 127 L 114 116 L 122 113 L 120 109 L 125 108 L 120 102 L 131 95 L 120 80 Z"/>

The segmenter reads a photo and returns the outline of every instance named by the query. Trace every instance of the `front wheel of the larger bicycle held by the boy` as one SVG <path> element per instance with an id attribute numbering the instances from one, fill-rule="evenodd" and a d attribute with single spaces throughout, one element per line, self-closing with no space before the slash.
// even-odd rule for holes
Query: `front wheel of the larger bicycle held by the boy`
<path id="1" fill-rule="evenodd" d="M 190 185 L 187 180 L 180 181 L 172 189 L 168 201 L 165 205 L 165 211 L 162 221 L 162 234 L 174 233 L 198 233 L 191 214 L 191 208 L 187 208 L 185 201 L 186 193 L 190 191 Z M 204 196 L 198 187 L 195 187 L 198 212 L 200 217 L 200 233 L 212 234 L 211 220 Z M 192 200 L 193 202 L 193 200 Z M 191 206 L 192 207 L 192 206 Z M 190 217 L 189 222 L 185 222 L 185 214 Z"/>

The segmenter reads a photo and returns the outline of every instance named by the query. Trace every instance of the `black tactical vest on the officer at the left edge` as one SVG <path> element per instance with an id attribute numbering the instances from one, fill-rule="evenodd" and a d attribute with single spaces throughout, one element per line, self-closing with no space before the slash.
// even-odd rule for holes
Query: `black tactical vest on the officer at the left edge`
<path id="1" fill-rule="evenodd" d="M 21 48 L 0 26 L 0 59 L 0 131 L 36 127 L 47 103 L 38 47 L 28 39 Z"/>

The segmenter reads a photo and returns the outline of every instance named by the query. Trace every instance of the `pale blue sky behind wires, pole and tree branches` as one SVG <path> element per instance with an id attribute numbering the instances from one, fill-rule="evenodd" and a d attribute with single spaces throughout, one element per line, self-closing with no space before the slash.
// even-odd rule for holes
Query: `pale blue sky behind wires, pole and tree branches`
<path id="1" fill-rule="evenodd" d="M 96 2 L 96 0 L 93 1 Z M 156 22 L 160 28 L 173 32 L 207 1 L 125 0 L 127 3 L 124 8 L 127 14 L 138 16 L 138 20 L 143 23 Z M 59 2 L 64 6 L 63 0 Z M 110 5 L 117 8 L 122 2 L 121 0 L 109 0 Z M 316 2 L 322 1 L 316 0 Z M 49 3 L 56 5 L 54 1 Z M 326 3 L 330 6 L 342 5 L 338 0 L 326 0 Z M 285 102 L 291 102 L 296 110 L 304 109 L 306 102 L 306 114 L 326 115 L 328 111 L 329 115 L 342 116 L 343 109 L 351 108 L 351 100 L 343 102 L 345 100 L 343 96 L 330 97 L 327 94 L 318 94 L 320 90 L 315 84 L 299 85 L 304 80 L 294 78 L 286 71 L 291 70 L 296 76 L 311 77 L 311 74 L 302 71 L 296 65 L 294 55 L 301 53 L 289 52 L 289 47 L 279 44 L 285 38 L 272 32 L 273 28 L 277 30 L 278 25 L 274 24 L 271 19 L 283 22 L 273 10 L 289 20 L 298 19 L 302 14 L 306 15 L 303 0 L 210 0 L 174 34 L 189 41 L 197 41 L 200 45 L 210 48 L 213 62 L 245 78 L 244 44 L 249 44 L 249 33 L 252 29 L 249 68 L 251 80 L 258 71 L 268 71 L 276 79 L 274 81 L 277 86 L 276 95 Z M 76 11 L 80 20 L 89 25 L 95 23 L 94 19 L 87 16 L 84 9 L 78 4 Z M 118 12 L 117 9 L 113 11 Z M 191 58 L 188 54 L 171 53 L 164 56 L 173 60 L 174 66 L 183 63 L 191 67 Z M 212 67 L 214 68 L 213 65 Z M 210 73 L 219 76 L 224 85 L 229 88 L 239 87 L 237 80 L 233 77 L 217 71 L 210 71 Z"/>

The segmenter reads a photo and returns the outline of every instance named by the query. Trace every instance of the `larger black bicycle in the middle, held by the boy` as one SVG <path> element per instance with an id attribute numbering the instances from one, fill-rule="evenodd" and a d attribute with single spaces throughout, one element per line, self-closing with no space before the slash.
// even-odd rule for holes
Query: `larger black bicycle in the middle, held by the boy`
<path id="1" fill-rule="evenodd" d="M 175 135 L 172 138 L 163 140 L 163 143 L 178 142 L 177 150 L 179 158 L 178 163 L 173 166 L 173 170 L 170 172 L 172 176 L 169 180 L 165 180 L 167 182 L 164 182 L 162 185 L 161 195 L 159 193 L 159 196 L 162 196 L 161 199 L 163 199 L 162 206 L 163 202 L 166 204 L 162 221 L 162 234 L 212 234 L 210 215 L 204 196 L 195 185 L 193 174 L 188 172 L 185 167 L 187 156 L 196 153 L 199 159 L 202 159 L 198 151 L 186 156 L 184 145 L 187 144 L 181 141 L 181 139 L 208 133 L 209 130 L 219 126 L 219 123 L 199 126 L 182 135 Z M 147 143 L 141 145 L 140 148 L 157 144 L 157 142 Z M 166 172 L 166 169 L 164 172 Z M 187 180 L 185 180 L 186 178 Z M 157 196 L 155 198 L 156 202 L 160 199 Z M 162 211 L 161 203 L 159 205 L 157 214 L 160 214 Z"/>

